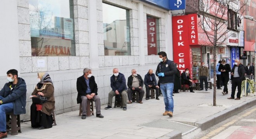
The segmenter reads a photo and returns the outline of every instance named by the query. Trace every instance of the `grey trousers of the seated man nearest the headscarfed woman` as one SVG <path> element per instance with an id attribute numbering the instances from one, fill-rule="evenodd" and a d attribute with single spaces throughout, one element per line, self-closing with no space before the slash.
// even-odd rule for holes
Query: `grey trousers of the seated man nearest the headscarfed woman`
<path id="1" fill-rule="evenodd" d="M 95 95 L 92 99 L 95 102 L 96 114 L 100 114 L 100 97 L 98 95 Z M 86 115 L 88 98 L 86 96 L 81 96 L 81 100 L 82 100 L 82 103 L 81 103 L 82 114 Z"/>

